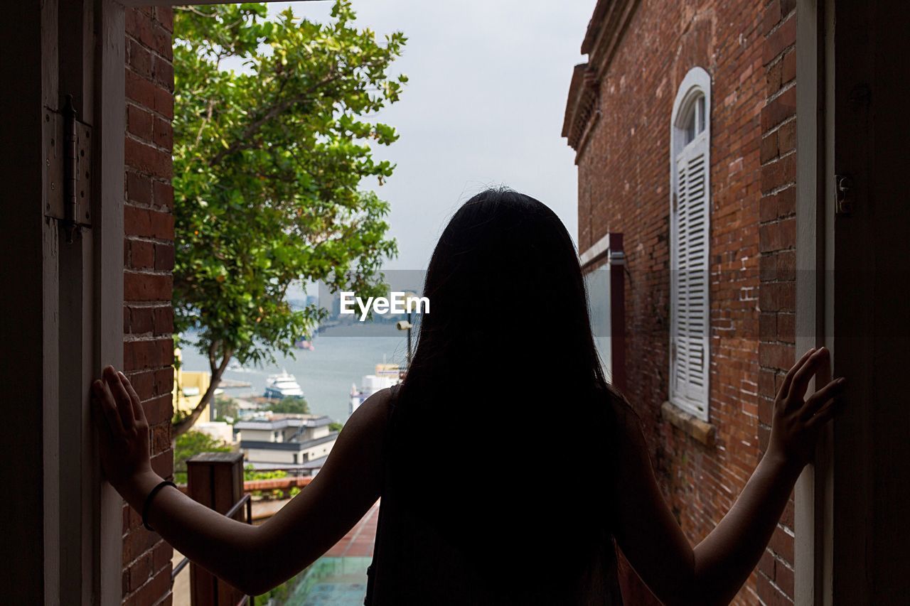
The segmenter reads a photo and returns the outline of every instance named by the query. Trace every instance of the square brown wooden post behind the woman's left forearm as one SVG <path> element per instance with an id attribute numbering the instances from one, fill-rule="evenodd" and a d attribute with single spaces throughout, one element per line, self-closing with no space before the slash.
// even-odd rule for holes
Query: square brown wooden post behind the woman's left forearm
<path id="1" fill-rule="evenodd" d="M 204 452 L 187 460 L 187 494 L 218 513 L 227 513 L 243 497 L 243 453 Z M 235 519 L 241 519 L 243 508 Z M 242 591 L 190 562 L 189 593 L 193 606 L 236 606 Z"/>

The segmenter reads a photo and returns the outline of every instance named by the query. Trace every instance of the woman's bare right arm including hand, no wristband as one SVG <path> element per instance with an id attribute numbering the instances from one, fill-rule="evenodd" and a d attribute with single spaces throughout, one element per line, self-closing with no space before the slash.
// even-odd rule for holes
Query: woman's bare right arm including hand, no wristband
<path id="1" fill-rule="evenodd" d="M 826 349 L 810 350 L 787 373 L 774 402 L 768 449 L 739 499 L 694 549 L 663 500 L 637 419 L 621 419 L 619 512 L 614 535 L 632 567 L 667 604 L 726 604 L 748 579 L 780 519 L 818 430 L 844 387 L 835 380 L 804 401 Z"/>

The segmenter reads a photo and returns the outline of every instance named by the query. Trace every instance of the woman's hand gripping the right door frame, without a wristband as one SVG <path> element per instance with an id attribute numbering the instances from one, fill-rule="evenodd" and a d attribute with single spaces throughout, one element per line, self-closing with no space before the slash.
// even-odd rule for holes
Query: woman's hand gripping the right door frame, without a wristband
<path id="1" fill-rule="evenodd" d="M 828 349 L 809 349 L 787 372 L 774 399 L 767 455 L 780 458 L 795 471 L 812 460 L 819 430 L 834 416 L 837 397 L 846 386 L 846 379 L 834 379 L 805 399 L 809 380 L 830 364 Z"/>

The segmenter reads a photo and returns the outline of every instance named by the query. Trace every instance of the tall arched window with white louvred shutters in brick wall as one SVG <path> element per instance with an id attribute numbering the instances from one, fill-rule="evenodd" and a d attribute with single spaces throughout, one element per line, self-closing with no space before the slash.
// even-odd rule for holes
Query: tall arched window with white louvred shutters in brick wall
<path id="1" fill-rule="evenodd" d="M 682 80 L 670 132 L 670 401 L 708 420 L 711 76 Z"/>

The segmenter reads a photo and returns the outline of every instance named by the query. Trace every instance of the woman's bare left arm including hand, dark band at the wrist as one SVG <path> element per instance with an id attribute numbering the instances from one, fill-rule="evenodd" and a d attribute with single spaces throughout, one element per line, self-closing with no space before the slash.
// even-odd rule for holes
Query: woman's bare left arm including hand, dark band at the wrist
<path id="1" fill-rule="evenodd" d="M 149 463 L 148 425 L 123 373 L 105 369 L 93 386 L 106 478 L 137 511 L 162 480 Z M 250 595 L 268 591 L 315 561 L 379 499 L 387 389 L 348 420 L 319 474 L 261 526 L 229 520 L 179 490 L 160 490 L 149 525 L 175 549 Z"/>

